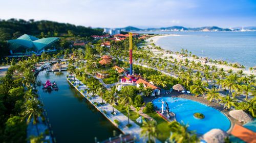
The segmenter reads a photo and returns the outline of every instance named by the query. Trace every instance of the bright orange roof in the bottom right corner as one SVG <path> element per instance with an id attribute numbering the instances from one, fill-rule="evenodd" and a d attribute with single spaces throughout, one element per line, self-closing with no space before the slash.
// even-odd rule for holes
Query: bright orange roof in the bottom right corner
<path id="1" fill-rule="evenodd" d="M 245 142 L 249 143 L 249 142 L 256 142 L 256 133 L 247 129 L 247 128 L 244 128 L 240 125 L 237 125 L 237 124 L 234 124 L 234 127 L 231 131 L 231 134 L 233 136 L 236 136 L 242 140 L 244 140 Z"/>

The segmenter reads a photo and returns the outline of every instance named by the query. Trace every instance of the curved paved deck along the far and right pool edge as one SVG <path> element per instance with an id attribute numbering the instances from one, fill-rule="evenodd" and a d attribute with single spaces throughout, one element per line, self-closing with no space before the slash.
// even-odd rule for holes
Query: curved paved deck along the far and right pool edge
<path id="1" fill-rule="evenodd" d="M 200 102 L 200 103 L 205 104 L 207 106 L 213 107 L 213 108 L 221 111 L 222 113 L 224 113 L 229 118 L 229 121 L 231 123 L 231 126 L 230 126 L 229 130 L 227 131 L 227 133 L 231 132 L 234 124 L 243 125 L 243 123 L 238 122 L 237 120 L 235 120 L 234 118 L 232 118 L 229 115 L 229 111 L 231 111 L 231 109 L 226 110 L 226 109 L 223 108 L 224 107 L 223 105 L 221 105 L 219 103 L 216 103 L 216 102 L 209 103 L 209 101 L 207 99 L 205 99 L 204 97 L 201 97 L 201 96 L 200 97 L 194 97 L 194 96 L 191 96 L 191 95 L 187 95 L 187 94 L 178 93 L 176 91 L 173 91 L 171 94 L 160 94 L 157 97 L 150 97 L 150 98 L 143 98 L 143 99 L 146 102 L 152 102 L 152 100 L 154 100 L 155 98 L 158 98 L 158 97 L 172 97 L 172 96 L 177 96 L 178 98 L 184 98 L 184 99 L 197 101 L 197 102 Z"/>

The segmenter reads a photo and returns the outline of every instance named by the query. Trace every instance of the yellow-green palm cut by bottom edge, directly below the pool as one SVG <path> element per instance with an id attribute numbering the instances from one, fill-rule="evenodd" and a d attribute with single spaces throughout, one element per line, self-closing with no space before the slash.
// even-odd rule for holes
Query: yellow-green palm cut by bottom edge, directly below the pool
<path id="1" fill-rule="evenodd" d="M 171 122 L 169 124 L 171 133 L 170 133 L 170 142 L 177 142 L 177 143 L 182 143 L 182 142 L 198 142 L 199 139 L 197 138 L 197 135 L 195 134 L 194 131 L 189 131 L 188 130 L 188 125 L 182 123 L 180 124 L 179 122 Z"/>

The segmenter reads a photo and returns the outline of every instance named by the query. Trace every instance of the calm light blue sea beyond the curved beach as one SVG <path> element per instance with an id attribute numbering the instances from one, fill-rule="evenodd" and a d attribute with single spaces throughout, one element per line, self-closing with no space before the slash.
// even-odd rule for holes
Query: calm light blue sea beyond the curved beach
<path id="1" fill-rule="evenodd" d="M 238 62 L 256 66 L 256 32 L 140 32 L 177 34 L 160 38 L 156 44 L 163 49 L 180 51 L 182 48 L 199 57 Z"/>

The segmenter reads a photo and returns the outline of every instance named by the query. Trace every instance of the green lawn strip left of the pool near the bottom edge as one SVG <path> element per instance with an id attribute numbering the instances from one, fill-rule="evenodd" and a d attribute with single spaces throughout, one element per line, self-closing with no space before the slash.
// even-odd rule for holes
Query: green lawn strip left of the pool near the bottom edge
<path id="1" fill-rule="evenodd" d="M 167 138 L 170 137 L 170 128 L 168 127 L 169 123 L 165 121 L 160 115 L 156 112 L 148 113 L 147 115 L 151 116 L 157 122 L 157 139 L 164 142 Z"/>

